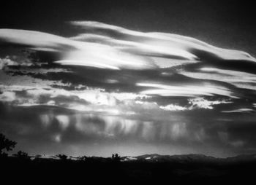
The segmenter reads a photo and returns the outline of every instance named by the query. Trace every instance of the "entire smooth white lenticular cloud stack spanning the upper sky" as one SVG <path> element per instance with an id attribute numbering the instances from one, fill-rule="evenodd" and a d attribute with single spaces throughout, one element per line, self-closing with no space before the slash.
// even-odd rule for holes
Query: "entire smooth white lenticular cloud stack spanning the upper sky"
<path id="1" fill-rule="evenodd" d="M 177 60 L 216 63 L 244 60 L 255 63 L 246 52 L 226 50 L 187 36 L 131 31 L 115 25 L 92 21 L 74 21 L 83 33 L 70 38 L 39 31 L 1 29 L 0 41 L 21 44 L 33 50 L 56 52 L 56 63 L 94 68 L 154 69 L 173 66 Z"/>

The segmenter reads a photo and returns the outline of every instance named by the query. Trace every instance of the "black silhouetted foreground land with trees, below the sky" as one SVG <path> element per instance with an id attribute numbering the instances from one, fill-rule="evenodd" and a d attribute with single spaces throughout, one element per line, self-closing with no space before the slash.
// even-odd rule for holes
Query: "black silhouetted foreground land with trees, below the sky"
<path id="1" fill-rule="evenodd" d="M 256 155 L 215 158 L 203 154 L 159 155 L 138 157 L 29 157 L 20 152 L 0 158 L 2 177 L 38 178 L 42 181 L 83 180 L 95 182 L 160 182 L 167 184 L 192 181 L 215 184 L 227 181 L 244 184 L 255 178 Z"/>

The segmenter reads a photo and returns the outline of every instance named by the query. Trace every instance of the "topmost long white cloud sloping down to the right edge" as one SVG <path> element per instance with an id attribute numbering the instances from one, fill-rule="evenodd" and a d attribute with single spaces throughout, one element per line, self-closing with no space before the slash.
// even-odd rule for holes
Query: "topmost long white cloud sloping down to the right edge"
<path id="1" fill-rule="evenodd" d="M 71 24 L 83 28 L 85 31 L 91 31 L 94 34 L 99 33 L 100 35 L 100 33 L 103 33 L 103 35 L 105 34 L 106 36 L 117 38 L 117 41 L 113 39 L 113 42 L 121 42 L 123 40 L 124 43 L 127 43 L 128 47 L 129 44 L 133 43 L 135 45 L 141 44 L 136 47 L 136 50 L 145 50 L 148 55 L 152 55 L 152 53 L 154 53 L 152 50 L 157 51 L 157 48 L 159 48 L 159 51 L 157 52 L 159 55 L 166 54 L 169 55 L 170 58 L 176 56 L 187 58 L 189 60 L 204 60 L 205 55 L 211 55 L 212 57 L 224 60 L 249 60 L 255 62 L 255 58 L 252 58 L 252 56 L 246 52 L 214 47 L 188 36 L 163 33 L 143 33 L 94 21 L 72 21 Z M 77 37 L 76 39 L 85 38 L 80 36 L 80 38 Z M 98 40 L 101 39 L 106 40 L 106 37 L 99 36 Z M 125 47 L 125 44 L 123 45 Z M 135 45 L 132 45 L 132 47 L 135 47 Z M 168 52 L 165 53 L 165 51 Z M 198 55 L 199 52 L 202 54 Z"/>

